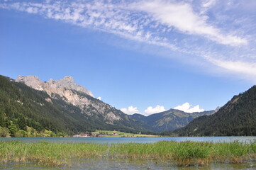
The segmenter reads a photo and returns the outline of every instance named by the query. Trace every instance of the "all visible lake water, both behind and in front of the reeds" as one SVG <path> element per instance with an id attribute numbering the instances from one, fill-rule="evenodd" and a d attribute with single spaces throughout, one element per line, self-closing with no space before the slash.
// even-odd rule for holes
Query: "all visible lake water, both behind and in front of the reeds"
<path id="1" fill-rule="evenodd" d="M 118 143 L 118 142 L 159 142 L 165 141 L 198 141 L 198 142 L 250 142 L 256 137 L 12 137 L 0 138 L 1 141 L 19 140 L 22 142 L 96 142 L 96 143 Z M 209 164 L 208 166 L 177 166 L 172 162 L 160 162 L 160 160 L 135 160 L 135 159 L 74 159 L 71 166 L 60 168 L 42 166 L 35 163 L 26 164 L 0 164 L 0 169 L 256 169 L 255 160 L 243 164 Z"/>

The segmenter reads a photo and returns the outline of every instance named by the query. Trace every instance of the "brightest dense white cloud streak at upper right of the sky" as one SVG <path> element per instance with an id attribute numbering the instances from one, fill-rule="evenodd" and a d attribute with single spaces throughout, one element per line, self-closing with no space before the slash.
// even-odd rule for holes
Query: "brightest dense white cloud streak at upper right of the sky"
<path id="1" fill-rule="evenodd" d="M 210 6 L 212 1 L 204 4 Z M 190 4 L 174 3 L 173 1 L 144 1 L 136 7 L 152 15 L 156 20 L 168 27 L 177 28 L 187 34 L 203 35 L 224 45 L 245 45 L 247 40 L 235 35 L 223 34 L 221 30 L 207 23 L 207 16 L 195 13 Z"/>

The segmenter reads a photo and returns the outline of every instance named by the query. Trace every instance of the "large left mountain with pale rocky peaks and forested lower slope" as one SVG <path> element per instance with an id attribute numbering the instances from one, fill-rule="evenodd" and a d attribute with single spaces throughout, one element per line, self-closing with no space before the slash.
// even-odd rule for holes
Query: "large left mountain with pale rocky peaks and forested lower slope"
<path id="1" fill-rule="evenodd" d="M 128 115 L 94 98 L 72 77 L 43 82 L 34 76 L 16 80 L 0 76 L 0 136 L 7 131 L 12 136 L 28 135 L 26 127 L 55 135 L 96 129 L 147 131 Z"/>

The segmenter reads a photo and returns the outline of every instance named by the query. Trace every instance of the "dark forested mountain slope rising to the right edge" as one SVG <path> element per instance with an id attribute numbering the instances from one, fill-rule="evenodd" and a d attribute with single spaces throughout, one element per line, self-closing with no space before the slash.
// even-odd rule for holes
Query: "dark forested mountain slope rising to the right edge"
<path id="1" fill-rule="evenodd" d="M 256 135 L 256 86 L 233 96 L 217 113 L 195 118 L 173 133 L 180 136 Z"/>

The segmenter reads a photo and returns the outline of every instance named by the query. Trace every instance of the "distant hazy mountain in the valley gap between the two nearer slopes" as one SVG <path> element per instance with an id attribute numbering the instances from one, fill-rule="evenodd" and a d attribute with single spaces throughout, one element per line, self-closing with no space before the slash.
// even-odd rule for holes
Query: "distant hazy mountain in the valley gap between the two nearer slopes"
<path id="1" fill-rule="evenodd" d="M 140 122 L 140 125 L 144 128 L 150 129 L 153 132 L 162 132 L 167 130 L 176 130 L 189 124 L 191 120 L 201 115 L 211 115 L 215 111 L 204 111 L 196 113 L 185 113 L 175 109 L 170 109 L 161 113 L 155 113 L 152 115 L 140 115 L 135 113 L 130 115 L 130 118 Z"/>

